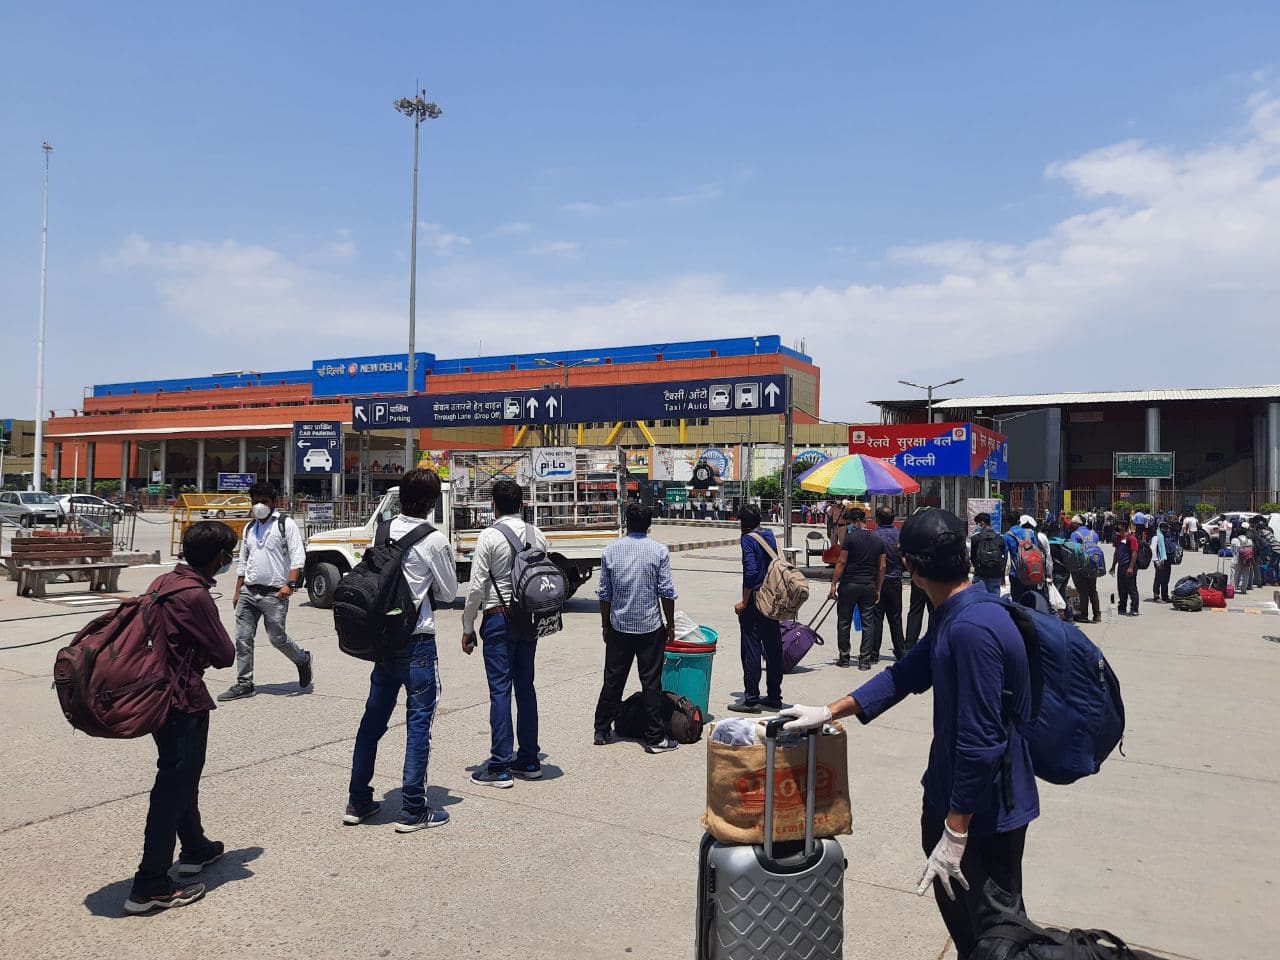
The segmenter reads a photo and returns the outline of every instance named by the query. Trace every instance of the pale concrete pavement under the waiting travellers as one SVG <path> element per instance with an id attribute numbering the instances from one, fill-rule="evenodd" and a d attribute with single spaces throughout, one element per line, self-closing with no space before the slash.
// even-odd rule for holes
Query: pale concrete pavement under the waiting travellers
<path id="1" fill-rule="evenodd" d="M 717 548 L 673 562 L 680 607 L 721 631 L 717 705 L 740 689 L 735 554 Z M 1190 558 L 1185 568 L 1208 562 Z M 125 586 L 154 573 L 129 571 Z M 0 596 L 0 646 L 87 618 L 13 599 L 8 585 Z M 225 599 L 221 608 L 229 625 Z M 1267 636 L 1280 636 L 1280 617 L 1143 609 L 1088 627 L 1124 684 L 1126 756 L 1091 781 L 1042 787 L 1027 850 L 1029 909 L 1169 956 L 1272 956 L 1280 643 Z M 140 854 L 151 744 L 95 741 L 65 726 L 49 690 L 54 645 L 0 652 L 0 956 L 689 957 L 703 746 L 664 756 L 591 746 L 602 649 L 595 604 L 580 596 L 564 632 L 539 650 L 547 780 L 472 786 L 467 769 L 488 741 L 484 671 L 458 646 L 458 612 L 440 621 L 444 694 L 429 781 L 452 822 L 402 837 L 388 809 L 374 826 L 339 826 L 367 668 L 337 650 L 325 612 L 298 604 L 291 623 L 315 654 L 315 692 L 298 695 L 292 666 L 262 644 L 261 695 L 214 713 L 201 788 L 210 835 L 233 854 L 210 872 L 204 902 L 150 919 L 122 918 L 120 904 Z M 835 653 L 833 644 L 815 650 L 787 678 L 787 699 L 826 701 L 865 678 L 835 667 Z M 230 671 L 209 676 L 215 692 L 230 681 Z M 928 696 L 851 731 L 847 957 L 950 955 L 932 904 L 914 895 L 928 742 Z M 397 726 L 375 781 L 389 808 L 402 756 Z"/>

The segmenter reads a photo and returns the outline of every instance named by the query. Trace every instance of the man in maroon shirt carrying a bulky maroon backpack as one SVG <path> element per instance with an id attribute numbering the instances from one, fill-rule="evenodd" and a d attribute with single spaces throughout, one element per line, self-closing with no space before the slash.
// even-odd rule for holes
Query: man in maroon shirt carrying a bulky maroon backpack
<path id="1" fill-rule="evenodd" d="M 156 781 L 147 808 L 142 863 L 124 901 L 125 913 L 145 914 L 200 900 L 205 886 L 186 878 L 198 876 L 223 855 L 221 842 L 209 840 L 200 822 L 200 774 L 209 742 L 209 712 L 214 709 L 204 672 L 206 667 L 230 667 L 236 662 L 236 648 L 209 595 L 214 576 L 225 573 L 236 558 L 236 539 L 225 524 L 206 520 L 192 525 L 182 538 L 186 563 L 147 590 L 163 594 L 156 609 L 169 637 L 174 699 L 168 719 L 152 733 L 159 751 Z M 175 837 L 182 841 L 178 883 L 169 879 Z"/>

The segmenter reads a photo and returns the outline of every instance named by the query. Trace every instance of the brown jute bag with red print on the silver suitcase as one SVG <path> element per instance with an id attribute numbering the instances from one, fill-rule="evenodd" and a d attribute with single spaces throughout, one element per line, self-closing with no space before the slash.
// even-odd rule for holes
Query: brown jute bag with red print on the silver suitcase
<path id="1" fill-rule="evenodd" d="M 818 737 L 815 837 L 852 832 L 849 806 L 849 737 L 838 721 L 833 733 Z M 714 733 L 714 727 L 712 727 Z M 764 723 L 756 724 L 755 744 L 731 746 L 707 741 L 707 813 L 703 827 L 722 844 L 764 842 Z M 774 767 L 774 841 L 804 840 L 808 785 L 808 741 L 804 736 L 778 740 Z"/>

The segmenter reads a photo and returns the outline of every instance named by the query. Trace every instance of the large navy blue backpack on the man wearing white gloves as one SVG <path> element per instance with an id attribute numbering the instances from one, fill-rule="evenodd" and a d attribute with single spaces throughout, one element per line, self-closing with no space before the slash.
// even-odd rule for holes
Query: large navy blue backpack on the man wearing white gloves
<path id="1" fill-rule="evenodd" d="M 1027 645 L 1030 719 L 1016 719 L 1007 692 L 1005 717 L 1006 723 L 1018 723 L 1021 730 L 1036 776 L 1050 783 L 1074 783 L 1097 773 L 1124 740 L 1120 681 L 1102 650 L 1079 627 L 1056 616 L 992 594 L 980 599 L 1004 605 Z M 1006 754 L 1006 794 L 1010 765 Z"/>

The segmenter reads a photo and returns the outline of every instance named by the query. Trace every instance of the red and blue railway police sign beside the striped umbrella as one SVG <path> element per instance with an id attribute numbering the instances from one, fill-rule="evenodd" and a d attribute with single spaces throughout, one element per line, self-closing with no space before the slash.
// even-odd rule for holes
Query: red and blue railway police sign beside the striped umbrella
<path id="1" fill-rule="evenodd" d="M 849 452 L 887 460 L 908 476 L 1009 477 L 1009 442 L 977 424 L 855 424 Z"/>

